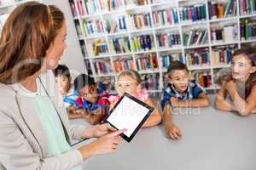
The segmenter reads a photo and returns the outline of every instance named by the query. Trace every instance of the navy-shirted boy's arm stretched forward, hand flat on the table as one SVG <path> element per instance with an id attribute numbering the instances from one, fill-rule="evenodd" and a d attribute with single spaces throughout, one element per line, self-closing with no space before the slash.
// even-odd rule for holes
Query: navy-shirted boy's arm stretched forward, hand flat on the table
<path id="1" fill-rule="evenodd" d="M 163 117 L 164 126 L 166 128 L 166 134 L 171 139 L 179 139 L 182 136 L 181 130 L 172 123 L 172 107 L 171 105 L 166 105 L 164 109 Z"/>

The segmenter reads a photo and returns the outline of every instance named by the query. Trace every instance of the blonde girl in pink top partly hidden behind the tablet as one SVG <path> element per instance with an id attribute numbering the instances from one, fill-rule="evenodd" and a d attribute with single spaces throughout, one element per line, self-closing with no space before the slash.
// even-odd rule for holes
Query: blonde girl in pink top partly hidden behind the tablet
<path id="1" fill-rule="evenodd" d="M 115 84 L 115 88 L 118 92 L 116 96 L 110 96 L 110 108 L 113 108 L 120 97 L 124 94 L 131 94 L 132 96 L 136 97 L 137 99 L 142 100 L 148 105 L 153 106 L 151 100 L 148 98 L 147 90 L 141 87 L 141 77 L 137 73 L 137 71 L 128 70 L 122 71 Z M 154 107 L 154 106 L 153 106 Z M 154 109 L 154 112 L 149 116 L 148 120 L 143 124 L 143 127 L 152 127 L 158 125 L 161 122 L 161 115 L 157 109 Z"/>

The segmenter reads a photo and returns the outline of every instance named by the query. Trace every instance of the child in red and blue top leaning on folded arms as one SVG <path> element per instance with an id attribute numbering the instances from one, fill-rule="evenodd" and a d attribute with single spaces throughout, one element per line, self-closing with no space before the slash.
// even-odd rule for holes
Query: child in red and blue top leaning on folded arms
<path id="1" fill-rule="evenodd" d="M 94 79 L 85 74 L 74 80 L 74 88 L 79 94 L 79 98 L 75 100 L 76 106 L 85 120 L 94 125 L 102 122 L 110 104 L 108 93 L 100 92 Z"/>

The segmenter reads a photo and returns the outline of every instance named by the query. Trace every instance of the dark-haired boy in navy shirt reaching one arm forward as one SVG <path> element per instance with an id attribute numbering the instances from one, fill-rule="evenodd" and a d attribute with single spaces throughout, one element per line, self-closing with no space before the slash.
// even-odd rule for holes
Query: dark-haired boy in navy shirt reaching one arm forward
<path id="1" fill-rule="evenodd" d="M 172 123 L 172 107 L 204 107 L 209 105 L 207 94 L 195 82 L 189 82 L 189 70 L 179 61 L 172 61 L 168 68 L 170 80 L 164 89 L 161 106 L 164 111 L 166 133 L 171 139 L 179 139 L 181 130 Z"/>

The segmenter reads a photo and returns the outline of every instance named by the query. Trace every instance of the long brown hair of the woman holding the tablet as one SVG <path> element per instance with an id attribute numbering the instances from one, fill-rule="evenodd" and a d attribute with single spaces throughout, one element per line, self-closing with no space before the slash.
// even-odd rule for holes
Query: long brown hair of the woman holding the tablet
<path id="1" fill-rule="evenodd" d="M 30 2 L 15 8 L 0 37 L 0 82 L 20 82 L 38 72 L 64 20 L 53 5 Z"/>

